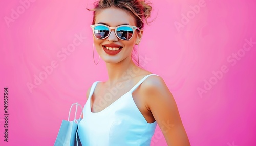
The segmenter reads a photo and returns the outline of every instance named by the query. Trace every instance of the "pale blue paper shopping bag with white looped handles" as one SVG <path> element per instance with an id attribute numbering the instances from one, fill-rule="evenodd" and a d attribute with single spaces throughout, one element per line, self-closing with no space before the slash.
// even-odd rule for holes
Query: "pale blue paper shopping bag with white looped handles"
<path id="1" fill-rule="evenodd" d="M 74 120 L 70 121 L 70 112 L 72 107 L 76 105 L 76 111 L 75 111 L 75 116 Z M 81 119 L 82 112 L 80 114 L 80 117 L 78 120 L 76 120 L 76 113 L 77 113 L 77 108 L 78 106 L 82 106 L 78 103 L 74 103 L 71 105 L 70 110 L 69 110 L 69 117 L 68 121 L 67 120 L 62 120 L 61 126 L 59 128 L 59 132 L 56 138 L 56 141 L 54 143 L 54 146 L 78 146 L 81 145 L 79 137 L 78 137 L 78 124 Z"/>

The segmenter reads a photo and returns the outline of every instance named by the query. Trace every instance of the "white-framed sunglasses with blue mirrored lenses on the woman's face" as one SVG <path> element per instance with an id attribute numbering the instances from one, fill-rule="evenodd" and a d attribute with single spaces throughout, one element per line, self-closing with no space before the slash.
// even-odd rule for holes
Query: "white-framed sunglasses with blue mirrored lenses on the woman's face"
<path id="1" fill-rule="evenodd" d="M 120 40 L 125 40 L 125 41 L 130 40 L 133 37 L 135 30 L 140 30 L 138 27 L 130 26 L 130 25 L 109 27 L 103 24 L 95 24 L 95 25 L 91 25 L 91 28 L 93 29 L 93 34 L 97 39 L 105 39 L 109 37 L 111 30 L 114 29 L 116 36 Z"/>

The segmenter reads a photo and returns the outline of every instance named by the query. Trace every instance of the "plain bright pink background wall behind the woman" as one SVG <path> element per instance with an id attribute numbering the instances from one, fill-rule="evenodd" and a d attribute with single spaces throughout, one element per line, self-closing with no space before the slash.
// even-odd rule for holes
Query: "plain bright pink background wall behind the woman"
<path id="1" fill-rule="evenodd" d="M 0 2 L 0 145 L 53 145 L 70 105 L 86 103 L 87 89 L 106 80 L 106 68 L 102 60 L 93 63 L 87 1 L 31 0 L 27 8 L 23 1 Z M 256 44 L 245 41 L 256 42 L 256 2 L 152 3 L 156 20 L 145 26 L 140 62 L 162 76 L 173 93 L 191 145 L 256 145 Z M 196 13 L 189 7 L 195 5 L 200 7 Z M 75 34 L 83 38 L 65 55 L 62 48 L 72 46 Z M 251 49 L 244 51 L 244 44 Z M 51 62 L 55 68 L 44 74 Z M 43 74 L 47 77 L 29 89 L 27 84 Z M 9 142 L 3 137 L 4 87 L 9 90 Z M 159 128 L 152 145 L 167 145 Z"/>

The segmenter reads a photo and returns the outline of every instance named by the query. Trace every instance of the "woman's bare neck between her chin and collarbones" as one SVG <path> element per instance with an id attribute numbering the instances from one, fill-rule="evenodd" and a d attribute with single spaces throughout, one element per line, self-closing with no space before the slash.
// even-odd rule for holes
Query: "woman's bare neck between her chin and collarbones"
<path id="1" fill-rule="evenodd" d="M 130 80 L 135 76 L 134 68 L 137 67 L 132 59 L 123 60 L 119 63 L 112 64 L 106 63 L 106 68 L 108 70 L 108 83 L 109 85 L 114 85 L 118 82 Z M 128 77 L 129 76 L 129 77 Z"/>

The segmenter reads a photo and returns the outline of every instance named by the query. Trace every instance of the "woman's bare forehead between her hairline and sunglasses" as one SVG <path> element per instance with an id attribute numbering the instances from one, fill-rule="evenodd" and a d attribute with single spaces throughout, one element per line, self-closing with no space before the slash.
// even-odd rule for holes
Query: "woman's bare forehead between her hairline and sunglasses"
<path id="1" fill-rule="evenodd" d="M 124 10 L 118 8 L 107 8 L 96 13 L 95 23 L 105 23 L 110 27 L 116 27 L 123 24 L 135 26 L 135 19 L 130 13 Z"/>

